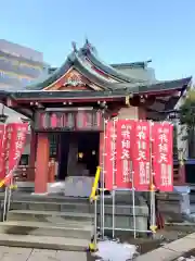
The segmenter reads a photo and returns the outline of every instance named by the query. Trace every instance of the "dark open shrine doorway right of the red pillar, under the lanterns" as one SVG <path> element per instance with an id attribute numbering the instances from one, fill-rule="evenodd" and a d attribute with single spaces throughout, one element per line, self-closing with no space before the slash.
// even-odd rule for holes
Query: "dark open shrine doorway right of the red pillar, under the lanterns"
<path id="1" fill-rule="evenodd" d="M 61 133 L 57 179 L 65 181 L 68 176 L 94 177 L 99 148 L 99 132 Z"/>

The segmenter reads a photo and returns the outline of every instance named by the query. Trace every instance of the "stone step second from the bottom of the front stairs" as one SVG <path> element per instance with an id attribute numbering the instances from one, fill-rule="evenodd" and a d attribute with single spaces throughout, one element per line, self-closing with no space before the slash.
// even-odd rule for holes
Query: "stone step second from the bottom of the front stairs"
<path id="1" fill-rule="evenodd" d="M 64 224 L 50 224 L 44 222 L 6 221 L 0 223 L 0 234 L 52 236 L 66 238 L 80 238 L 90 241 L 93 226 L 87 222 L 66 222 Z"/>

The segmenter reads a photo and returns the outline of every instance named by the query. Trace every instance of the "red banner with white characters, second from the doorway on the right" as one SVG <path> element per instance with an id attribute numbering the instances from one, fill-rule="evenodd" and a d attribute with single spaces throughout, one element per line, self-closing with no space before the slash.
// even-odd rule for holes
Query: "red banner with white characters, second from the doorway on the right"
<path id="1" fill-rule="evenodd" d="M 133 135 L 134 135 L 134 121 L 119 120 L 117 122 L 117 144 L 116 144 L 117 188 L 132 188 Z"/>

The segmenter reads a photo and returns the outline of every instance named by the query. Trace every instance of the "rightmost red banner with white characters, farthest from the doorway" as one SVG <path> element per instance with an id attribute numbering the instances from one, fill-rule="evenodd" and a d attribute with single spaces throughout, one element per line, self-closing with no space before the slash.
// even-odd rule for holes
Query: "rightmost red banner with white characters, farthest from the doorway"
<path id="1" fill-rule="evenodd" d="M 153 136 L 154 185 L 160 191 L 173 190 L 173 126 L 169 123 L 155 123 Z"/>

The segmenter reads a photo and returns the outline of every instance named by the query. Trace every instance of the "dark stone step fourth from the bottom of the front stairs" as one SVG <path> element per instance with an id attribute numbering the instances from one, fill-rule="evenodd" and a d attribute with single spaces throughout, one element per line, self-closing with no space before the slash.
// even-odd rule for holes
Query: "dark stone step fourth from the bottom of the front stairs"
<path id="1" fill-rule="evenodd" d="M 93 206 L 89 202 L 46 202 L 46 201 L 26 201 L 14 200 L 11 202 L 11 210 L 46 210 L 61 212 L 82 212 L 91 213 Z"/>

